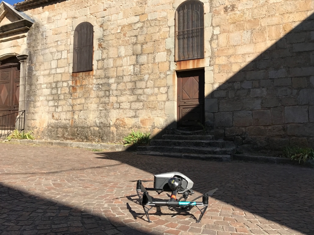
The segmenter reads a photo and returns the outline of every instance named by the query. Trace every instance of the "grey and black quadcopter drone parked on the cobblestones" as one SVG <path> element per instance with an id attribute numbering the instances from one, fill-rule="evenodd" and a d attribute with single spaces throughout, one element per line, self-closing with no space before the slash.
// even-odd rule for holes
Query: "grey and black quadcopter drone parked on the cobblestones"
<path id="1" fill-rule="evenodd" d="M 196 206 L 201 212 L 201 215 L 196 222 L 201 222 L 201 219 L 208 207 L 208 196 L 212 196 L 214 192 L 218 190 L 218 188 L 208 191 L 203 195 L 194 198 L 192 201 L 187 201 L 187 197 L 194 194 L 192 186 L 193 181 L 189 179 L 186 175 L 183 175 L 182 173 L 177 171 L 154 175 L 154 188 L 145 188 L 142 185 L 142 180 L 138 180 L 136 183 L 136 192 L 141 201 L 141 205 L 143 206 L 148 222 L 151 222 L 149 220 L 148 212 L 154 206 L 168 206 L 169 209 L 171 207 L 181 208 L 181 210 L 184 211 L 189 211 L 193 206 Z M 171 197 L 170 200 L 153 201 L 153 198 L 148 194 L 148 191 L 156 191 L 158 195 L 164 191 L 171 192 Z M 182 194 L 179 199 L 176 199 L 177 193 Z M 196 200 L 201 197 L 203 197 L 202 202 L 197 202 Z M 200 209 L 199 207 L 202 208 Z"/>

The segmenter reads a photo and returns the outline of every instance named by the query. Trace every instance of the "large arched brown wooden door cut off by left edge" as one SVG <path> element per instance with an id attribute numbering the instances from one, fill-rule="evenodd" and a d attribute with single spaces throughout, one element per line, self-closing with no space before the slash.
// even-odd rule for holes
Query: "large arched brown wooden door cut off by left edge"
<path id="1" fill-rule="evenodd" d="M 0 65 L 0 117 L 19 111 L 19 82 L 19 60 L 16 57 L 2 60 Z M 11 118 L 15 119 L 15 117 Z M 0 128 L 8 127 L 8 118 L 1 118 L 0 121 Z"/>

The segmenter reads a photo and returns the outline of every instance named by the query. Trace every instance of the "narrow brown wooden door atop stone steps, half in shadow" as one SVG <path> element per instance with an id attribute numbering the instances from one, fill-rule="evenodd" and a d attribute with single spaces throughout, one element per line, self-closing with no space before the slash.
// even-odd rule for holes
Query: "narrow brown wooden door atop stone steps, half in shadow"
<path id="1" fill-rule="evenodd" d="M 178 129 L 202 129 L 204 124 L 204 70 L 180 72 L 177 77 Z"/>

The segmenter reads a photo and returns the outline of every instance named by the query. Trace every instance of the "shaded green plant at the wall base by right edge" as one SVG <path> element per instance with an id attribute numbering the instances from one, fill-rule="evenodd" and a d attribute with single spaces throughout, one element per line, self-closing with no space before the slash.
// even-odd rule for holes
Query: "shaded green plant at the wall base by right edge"
<path id="1" fill-rule="evenodd" d="M 282 151 L 283 157 L 290 158 L 291 160 L 306 162 L 307 160 L 314 160 L 314 150 L 307 147 L 285 147 Z"/>

